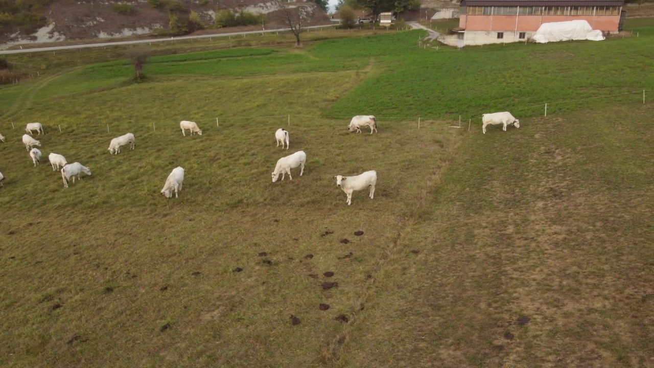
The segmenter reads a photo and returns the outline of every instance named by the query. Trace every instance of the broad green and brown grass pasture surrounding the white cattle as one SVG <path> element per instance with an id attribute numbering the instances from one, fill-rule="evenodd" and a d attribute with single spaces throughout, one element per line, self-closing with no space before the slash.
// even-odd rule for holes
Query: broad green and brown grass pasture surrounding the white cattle
<path id="1" fill-rule="evenodd" d="M 44 77 L 0 87 L 0 366 L 653 366 L 651 99 L 530 108 L 651 89 L 639 22 L 603 43 L 178 52 L 137 84 L 121 60 L 44 54 Z M 496 109 L 521 128 L 481 134 Z M 379 134 L 347 132 L 368 111 Z M 271 183 L 299 150 L 305 174 Z M 93 175 L 64 189 L 50 152 Z M 365 170 L 375 198 L 347 206 L 332 176 Z"/>

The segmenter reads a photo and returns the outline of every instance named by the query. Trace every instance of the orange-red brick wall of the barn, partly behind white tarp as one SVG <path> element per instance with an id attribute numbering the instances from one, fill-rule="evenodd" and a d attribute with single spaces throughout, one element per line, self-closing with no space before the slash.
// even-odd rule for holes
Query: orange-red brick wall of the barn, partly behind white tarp
<path id="1" fill-rule="evenodd" d="M 514 31 L 515 15 L 461 15 L 459 27 L 466 31 Z M 518 18 L 519 32 L 537 31 L 542 23 L 564 22 L 566 20 L 586 20 L 593 29 L 617 32 L 619 15 L 521 15 Z"/>

